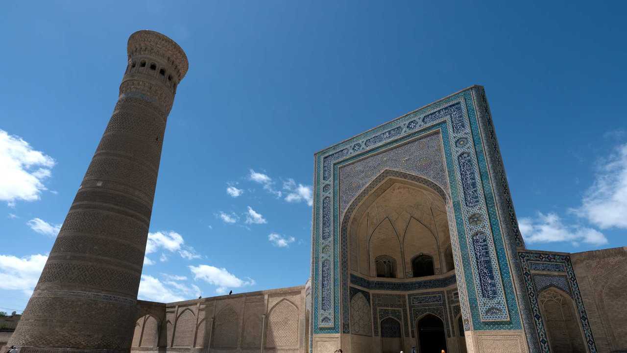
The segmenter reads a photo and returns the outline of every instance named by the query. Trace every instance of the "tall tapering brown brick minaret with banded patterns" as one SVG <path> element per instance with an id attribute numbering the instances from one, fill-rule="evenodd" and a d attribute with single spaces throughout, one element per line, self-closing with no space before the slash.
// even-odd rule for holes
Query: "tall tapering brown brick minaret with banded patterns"
<path id="1" fill-rule="evenodd" d="M 179 45 L 138 31 L 107 129 L 9 345 L 129 352 L 167 116 L 187 72 Z"/>

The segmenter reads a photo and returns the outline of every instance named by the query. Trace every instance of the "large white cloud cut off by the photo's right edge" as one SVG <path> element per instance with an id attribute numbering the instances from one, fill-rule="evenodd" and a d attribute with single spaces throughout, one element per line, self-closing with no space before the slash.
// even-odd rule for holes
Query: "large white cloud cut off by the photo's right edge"
<path id="1" fill-rule="evenodd" d="M 627 229 L 627 144 L 600 163 L 581 206 L 572 211 L 601 229 Z"/>

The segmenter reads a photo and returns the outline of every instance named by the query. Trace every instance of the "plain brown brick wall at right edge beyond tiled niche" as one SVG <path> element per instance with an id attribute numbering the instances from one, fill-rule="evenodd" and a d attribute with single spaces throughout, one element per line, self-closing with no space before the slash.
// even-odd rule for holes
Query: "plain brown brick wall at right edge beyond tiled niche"
<path id="1" fill-rule="evenodd" d="M 627 247 L 571 254 L 599 352 L 627 350 Z"/>

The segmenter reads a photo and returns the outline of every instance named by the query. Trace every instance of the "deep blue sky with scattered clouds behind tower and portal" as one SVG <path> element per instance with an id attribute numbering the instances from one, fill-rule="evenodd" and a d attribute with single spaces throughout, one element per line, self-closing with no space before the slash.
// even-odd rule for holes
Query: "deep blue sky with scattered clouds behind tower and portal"
<path id="1" fill-rule="evenodd" d="M 626 7 L 4 1 L 0 311 L 28 301 L 140 29 L 189 58 L 140 298 L 304 284 L 315 151 L 473 84 L 485 86 L 527 246 L 625 246 Z"/>

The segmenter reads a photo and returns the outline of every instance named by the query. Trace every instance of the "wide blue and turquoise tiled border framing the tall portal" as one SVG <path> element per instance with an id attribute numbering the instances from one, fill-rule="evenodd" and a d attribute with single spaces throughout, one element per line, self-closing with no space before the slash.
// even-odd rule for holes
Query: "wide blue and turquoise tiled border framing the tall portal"
<path id="1" fill-rule="evenodd" d="M 428 131 L 433 131 L 435 129 L 440 129 L 442 140 L 443 140 L 443 153 L 445 155 L 446 160 L 446 168 L 448 170 L 448 180 L 450 180 L 450 190 L 448 193 L 450 196 L 446 199 L 451 200 L 451 207 L 454 212 L 451 212 L 450 220 L 456 224 L 458 240 L 455 241 L 457 244 L 455 249 L 453 249 L 453 253 L 455 254 L 455 259 L 461 259 L 461 263 L 458 263 L 458 267 L 465 270 L 465 279 L 461 283 L 465 284 L 465 290 L 460 290 L 461 296 L 461 304 L 462 311 L 465 312 L 465 317 L 472 318 L 472 329 L 479 330 L 498 330 L 498 329 L 520 329 L 520 317 L 517 312 L 517 304 L 515 303 L 514 291 L 512 288 L 512 279 L 511 274 L 508 269 L 507 255 L 505 254 L 505 248 L 503 244 L 503 239 L 500 234 L 500 224 L 498 223 L 498 216 L 495 210 L 494 197 L 492 193 L 492 185 L 490 184 L 489 175 L 487 172 L 487 161 L 485 159 L 485 155 L 483 154 L 483 146 L 482 140 L 480 138 L 480 133 L 478 131 L 477 124 L 477 116 L 473 106 L 472 100 L 472 89 L 468 89 L 462 91 L 456 95 L 448 97 L 446 99 L 440 100 L 435 104 L 431 104 L 420 111 L 412 112 L 404 117 L 396 119 L 395 121 L 389 122 L 380 126 L 379 128 L 373 129 L 372 131 L 368 131 L 360 136 L 356 136 L 355 138 L 349 139 L 344 143 L 340 143 L 332 148 L 329 148 L 325 151 L 322 151 L 316 155 L 316 170 L 320 173 L 320 176 L 317 176 L 316 180 L 324 180 L 324 182 L 332 182 L 334 187 L 332 190 L 329 190 L 329 193 L 325 195 L 330 195 L 332 197 L 332 224 L 335 227 L 334 232 L 331 236 L 333 246 L 326 247 L 321 244 L 321 221 L 322 221 L 322 207 L 321 196 L 324 192 L 323 183 L 316 182 L 315 188 L 315 197 L 316 197 L 316 205 L 314 209 L 315 219 L 314 219 L 314 256 L 315 256 L 315 264 L 314 264 L 314 286 L 317 288 L 314 291 L 314 322 L 320 324 L 320 318 L 329 318 L 332 321 L 332 325 L 314 325 L 314 334 L 322 334 L 322 333 L 339 333 L 340 332 L 340 320 L 339 318 L 339 296 L 340 296 L 340 287 L 339 281 L 342 278 L 342 284 L 344 282 L 347 285 L 347 276 L 340 275 L 339 266 L 340 259 L 342 259 L 342 255 L 344 254 L 344 249 L 340 248 L 340 219 L 338 214 L 338 200 L 337 193 L 339 191 L 337 184 L 337 170 L 340 165 L 345 164 L 345 162 L 354 159 L 359 155 L 359 158 L 362 158 L 367 155 L 371 155 L 374 153 L 378 153 L 382 148 L 386 148 L 391 146 L 391 144 L 403 143 L 403 141 L 407 141 L 408 139 L 413 138 L 414 136 L 418 136 L 418 134 L 424 134 Z M 451 109 L 455 110 L 453 107 L 455 104 L 460 104 L 461 117 L 459 114 L 448 114 L 446 115 L 446 122 L 438 124 L 435 122 L 432 126 L 425 126 L 426 124 L 421 120 L 422 117 L 426 116 L 426 114 L 431 114 L 436 111 L 440 111 L 440 109 Z M 451 126 L 453 128 L 450 133 L 448 132 L 447 127 Z M 399 129 L 402 128 L 402 129 Z M 396 134 L 396 131 L 402 130 L 401 133 Z M 413 131 L 416 131 L 414 133 Z M 374 139 L 372 139 L 374 138 Z M 449 138 L 452 138 L 453 141 L 456 141 L 455 144 L 451 145 L 449 143 Z M 463 139 L 466 139 L 464 141 Z M 371 147 L 366 147 L 365 141 L 371 141 Z M 457 141 L 459 141 L 457 143 Z M 378 146 L 377 146 L 378 145 Z M 369 149 L 367 149 L 369 148 Z M 478 189 L 480 190 L 480 206 L 479 208 L 483 209 L 485 212 L 485 217 L 483 219 L 482 225 L 480 225 L 480 229 L 477 227 L 470 225 L 469 220 L 467 219 L 468 212 L 477 213 L 477 207 L 474 209 L 468 209 L 465 205 L 460 204 L 460 198 L 458 193 L 458 189 L 463 189 L 461 186 L 461 177 L 457 176 L 458 171 L 458 160 L 457 156 L 460 153 L 469 152 L 471 153 L 472 158 L 476 158 L 475 161 L 472 161 L 475 164 L 475 168 L 478 167 L 477 176 L 478 176 Z M 455 185 L 453 185 L 455 184 Z M 485 207 L 485 208 L 483 208 Z M 512 210 L 513 213 L 513 210 Z M 477 265 L 474 263 L 475 257 L 473 251 L 468 251 L 468 237 L 466 237 L 465 228 L 470 229 L 471 231 L 483 230 L 486 231 L 487 234 L 490 234 L 490 257 L 493 259 L 493 272 L 495 273 L 495 280 L 498 282 L 497 288 L 498 295 L 495 299 L 486 299 L 482 296 L 478 296 L 478 291 L 475 289 L 475 283 L 480 283 L 480 279 L 477 274 Z M 326 249 L 326 250 L 325 250 Z M 471 247 L 472 249 L 472 247 Z M 327 254 L 324 252 L 329 251 L 331 254 Z M 459 252 L 459 254 L 458 254 Z M 334 266 L 332 266 L 332 279 L 330 283 L 333 283 L 334 287 L 334 295 L 332 296 L 334 300 L 334 310 L 321 310 L 320 308 L 320 261 L 323 258 L 334 259 Z M 337 274 L 337 275 L 336 275 Z M 344 280 L 346 278 L 346 280 Z M 347 286 L 345 286 L 346 291 L 348 292 Z M 342 295 L 342 305 L 344 305 L 344 300 L 348 299 L 348 295 Z M 470 303 L 470 307 L 465 308 L 465 303 Z M 344 305 L 345 307 L 346 305 Z M 488 313 L 488 309 L 496 307 L 502 310 L 503 315 L 494 315 L 491 316 Z M 510 315 L 510 313 L 512 315 Z M 507 316 L 505 316 L 507 314 Z M 346 315 L 347 317 L 348 315 Z M 342 312 L 342 317 L 344 317 L 344 312 Z M 486 322 L 485 320 L 505 320 L 500 322 Z M 344 325 L 344 321 L 346 321 L 346 325 Z M 348 320 L 344 320 L 342 318 L 342 332 L 349 332 L 348 329 Z M 470 323 L 469 323 L 470 324 Z M 321 327 L 322 326 L 322 327 Z"/>

